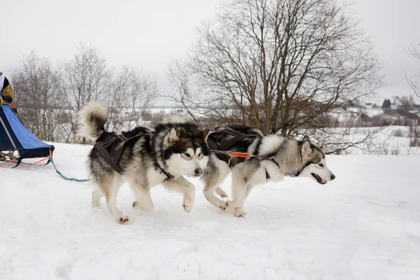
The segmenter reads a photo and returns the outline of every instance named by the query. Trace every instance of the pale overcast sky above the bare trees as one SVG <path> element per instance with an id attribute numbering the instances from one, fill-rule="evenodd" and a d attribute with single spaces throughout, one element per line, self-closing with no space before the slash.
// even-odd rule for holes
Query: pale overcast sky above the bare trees
<path id="1" fill-rule="evenodd" d="M 137 66 L 167 89 L 167 62 L 195 40 L 218 0 L 0 0 L 0 71 L 10 75 L 35 50 L 53 62 L 71 58 L 79 42 L 94 45 L 109 66 Z M 405 79 L 420 70 L 406 50 L 420 43 L 420 0 L 356 0 L 362 27 L 386 63 L 382 97 L 409 94 Z"/>

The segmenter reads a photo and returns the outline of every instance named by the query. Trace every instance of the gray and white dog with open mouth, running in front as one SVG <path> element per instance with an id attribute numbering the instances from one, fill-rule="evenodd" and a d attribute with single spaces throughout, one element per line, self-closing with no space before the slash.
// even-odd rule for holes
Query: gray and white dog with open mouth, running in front
<path id="1" fill-rule="evenodd" d="M 240 137 L 235 134 L 240 134 Z M 216 207 L 233 211 L 237 217 L 246 215 L 242 206 L 252 188 L 267 180 L 281 181 L 285 176 L 306 176 L 325 184 L 335 179 L 335 175 L 325 164 L 325 154 L 307 136 L 297 141 L 276 134 L 264 136 L 259 130 L 246 125 L 228 125 L 210 132 L 207 142 L 215 148 L 227 147 L 225 144 L 230 142 L 228 148 L 222 150 L 255 155 L 248 158 L 229 158 L 212 153 L 202 176 L 207 200 Z M 225 202 L 214 193 L 228 197 L 219 184 L 230 171 L 233 199 Z"/>

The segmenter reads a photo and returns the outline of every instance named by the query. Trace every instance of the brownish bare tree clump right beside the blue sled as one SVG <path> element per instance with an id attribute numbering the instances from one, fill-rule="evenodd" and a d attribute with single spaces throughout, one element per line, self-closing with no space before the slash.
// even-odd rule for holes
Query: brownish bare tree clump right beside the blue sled
<path id="1" fill-rule="evenodd" d="M 45 141 L 62 140 L 57 133 L 63 122 L 57 81 L 51 62 L 36 52 L 25 55 L 20 68 L 13 72 L 20 119 Z"/>

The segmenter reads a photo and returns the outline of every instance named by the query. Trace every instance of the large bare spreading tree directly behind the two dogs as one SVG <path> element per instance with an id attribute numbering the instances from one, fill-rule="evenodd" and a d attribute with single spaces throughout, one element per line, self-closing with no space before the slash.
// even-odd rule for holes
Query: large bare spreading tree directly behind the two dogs
<path id="1" fill-rule="evenodd" d="M 169 71 L 172 80 L 183 78 L 173 99 L 214 123 L 246 123 L 265 134 L 326 131 L 336 123 L 328 113 L 374 96 L 382 85 L 372 43 L 348 7 L 331 0 L 228 1 L 199 29 L 186 74 Z"/>

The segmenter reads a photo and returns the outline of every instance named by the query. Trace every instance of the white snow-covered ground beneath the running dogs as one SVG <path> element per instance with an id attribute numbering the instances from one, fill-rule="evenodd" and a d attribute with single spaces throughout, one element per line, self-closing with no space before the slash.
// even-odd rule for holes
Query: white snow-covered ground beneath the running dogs
<path id="1" fill-rule="evenodd" d="M 84 178 L 90 146 L 55 146 L 59 170 Z M 190 214 L 160 186 L 155 209 L 136 211 L 123 186 L 127 225 L 92 209 L 92 186 L 52 165 L 0 168 L 0 279 L 420 279 L 420 157 L 327 162 L 335 181 L 258 186 L 246 218 L 212 207 L 195 180 Z"/>

